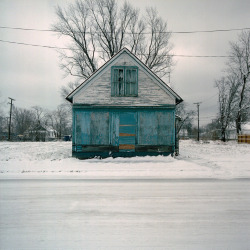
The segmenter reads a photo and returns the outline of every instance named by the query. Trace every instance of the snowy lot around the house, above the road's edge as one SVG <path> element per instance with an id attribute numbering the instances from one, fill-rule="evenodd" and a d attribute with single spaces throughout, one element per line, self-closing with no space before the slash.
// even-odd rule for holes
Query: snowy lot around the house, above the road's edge
<path id="1" fill-rule="evenodd" d="M 180 142 L 178 157 L 78 160 L 71 142 L 0 142 L 0 178 L 249 178 L 250 145 Z"/>

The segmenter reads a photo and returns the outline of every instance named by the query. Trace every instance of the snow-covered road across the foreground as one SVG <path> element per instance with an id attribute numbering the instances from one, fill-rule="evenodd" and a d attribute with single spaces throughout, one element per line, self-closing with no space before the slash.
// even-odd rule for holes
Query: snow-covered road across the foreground
<path id="1" fill-rule="evenodd" d="M 1 180 L 0 249 L 250 249 L 250 180 Z"/>

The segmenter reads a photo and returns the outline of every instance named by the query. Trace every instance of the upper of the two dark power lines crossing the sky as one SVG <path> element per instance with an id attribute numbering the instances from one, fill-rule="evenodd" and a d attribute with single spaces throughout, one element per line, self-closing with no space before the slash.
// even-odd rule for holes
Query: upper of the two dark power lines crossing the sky
<path id="1" fill-rule="evenodd" d="M 0 26 L 0 29 L 12 29 L 12 30 L 22 30 L 22 31 L 42 31 L 42 32 L 55 32 L 51 29 L 35 29 L 35 28 L 22 28 L 22 27 L 9 27 L 9 26 Z M 195 33 L 215 33 L 215 32 L 230 32 L 230 31 L 240 31 L 240 30 L 249 30 L 250 28 L 235 28 L 235 29 L 214 29 L 214 30 L 194 30 L 194 31 L 158 31 L 159 34 L 195 34 Z M 90 32 L 85 32 L 90 33 Z M 101 32 L 96 32 L 101 33 Z M 125 34 L 132 34 L 132 32 L 125 32 Z M 133 34 L 151 34 L 151 32 L 133 32 Z"/>

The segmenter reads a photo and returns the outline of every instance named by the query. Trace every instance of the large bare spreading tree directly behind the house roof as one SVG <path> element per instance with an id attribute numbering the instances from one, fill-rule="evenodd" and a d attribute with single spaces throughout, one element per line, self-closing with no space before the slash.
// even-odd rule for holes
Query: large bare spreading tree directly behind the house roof
<path id="1" fill-rule="evenodd" d="M 68 50 L 60 51 L 66 75 L 88 78 L 101 63 L 127 47 L 160 77 L 172 66 L 170 32 L 155 9 L 144 16 L 117 0 L 76 0 L 67 9 L 56 8 L 53 30 L 68 38 Z"/>

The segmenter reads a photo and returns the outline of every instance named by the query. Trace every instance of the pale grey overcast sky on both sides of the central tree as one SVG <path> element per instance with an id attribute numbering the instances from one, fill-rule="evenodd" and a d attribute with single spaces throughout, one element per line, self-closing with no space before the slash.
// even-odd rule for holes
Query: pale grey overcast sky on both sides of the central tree
<path id="1" fill-rule="evenodd" d="M 55 6 L 66 0 L 1 0 L 0 26 L 50 29 L 55 22 Z M 143 11 L 156 7 L 168 22 L 170 31 L 198 31 L 250 28 L 249 0 L 129 0 Z M 229 41 L 236 41 L 240 31 L 173 34 L 176 55 L 227 55 Z M 13 42 L 65 47 L 52 32 L 20 31 L 0 28 L 0 39 Z M 216 117 L 215 79 L 223 75 L 226 58 L 175 57 L 171 87 L 185 100 L 189 109 L 200 106 L 201 124 Z M 60 87 L 72 78 L 63 78 L 58 54 L 54 49 L 31 47 L 0 41 L 1 100 L 15 99 L 17 107 L 39 105 L 53 110 L 62 103 Z M 5 106 L 7 109 L 8 107 Z"/>

